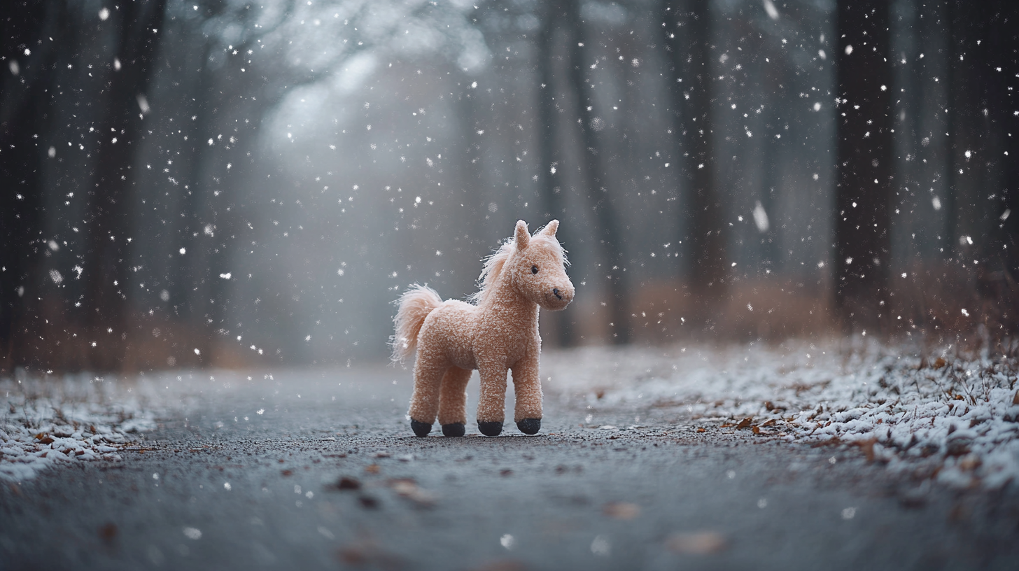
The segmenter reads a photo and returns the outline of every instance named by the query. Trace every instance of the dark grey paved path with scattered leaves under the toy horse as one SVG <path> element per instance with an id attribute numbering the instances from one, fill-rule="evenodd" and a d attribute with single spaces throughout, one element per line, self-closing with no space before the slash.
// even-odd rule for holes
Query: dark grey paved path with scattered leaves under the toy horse
<path id="1" fill-rule="evenodd" d="M 930 488 L 669 409 L 546 402 L 536 436 L 416 438 L 409 381 L 220 382 L 123 462 L 0 486 L 0 569 L 1019 565 L 1014 491 Z"/>

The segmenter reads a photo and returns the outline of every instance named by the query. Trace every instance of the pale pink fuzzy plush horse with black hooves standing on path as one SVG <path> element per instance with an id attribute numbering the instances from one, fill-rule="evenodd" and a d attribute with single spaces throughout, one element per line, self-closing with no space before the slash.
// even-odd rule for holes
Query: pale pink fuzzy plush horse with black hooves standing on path
<path id="1" fill-rule="evenodd" d="M 506 371 L 517 394 L 514 420 L 525 434 L 541 429 L 541 379 L 538 376 L 538 308 L 566 309 L 574 287 L 552 220 L 531 236 L 524 220 L 515 236 L 485 260 L 475 303 L 443 302 L 434 290 L 415 286 L 398 300 L 393 322 L 393 361 L 417 347 L 411 428 L 418 436 L 432 430 L 438 415 L 442 434 L 463 436 L 467 423 L 467 381 L 481 374 L 478 429 L 486 436 L 502 432 Z"/>

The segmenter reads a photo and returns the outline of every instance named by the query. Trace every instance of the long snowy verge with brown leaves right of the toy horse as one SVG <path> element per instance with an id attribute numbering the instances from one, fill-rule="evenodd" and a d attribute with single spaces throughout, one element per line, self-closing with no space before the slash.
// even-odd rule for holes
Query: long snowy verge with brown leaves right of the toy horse
<path id="1" fill-rule="evenodd" d="M 857 446 L 892 470 L 991 488 L 1019 484 L 1017 373 L 1014 357 L 863 339 L 584 348 L 541 363 L 549 398 L 588 405 L 588 423 L 599 409 L 673 409 L 695 424 Z"/>

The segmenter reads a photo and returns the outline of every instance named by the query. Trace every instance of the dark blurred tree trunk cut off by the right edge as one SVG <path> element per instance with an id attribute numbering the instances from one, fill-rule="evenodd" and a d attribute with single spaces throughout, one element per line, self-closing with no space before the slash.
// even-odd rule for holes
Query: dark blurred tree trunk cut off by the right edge
<path id="1" fill-rule="evenodd" d="M 948 29 L 953 219 L 946 254 L 972 268 L 966 277 L 975 278 L 983 305 L 980 319 L 1015 330 L 1019 225 L 1012 214 L 1019 194 L 1019 4 L 950 1 Z"/>

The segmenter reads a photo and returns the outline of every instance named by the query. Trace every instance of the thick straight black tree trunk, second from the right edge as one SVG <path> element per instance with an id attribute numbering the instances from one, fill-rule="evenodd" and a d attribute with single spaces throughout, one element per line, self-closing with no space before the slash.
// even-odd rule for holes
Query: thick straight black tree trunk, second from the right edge
<path id="1" fill-rule="evenodd" d="M 836 308 L 847 329 L 888 313 L 893 135 L 889 5 L 838 3 Z"/>

